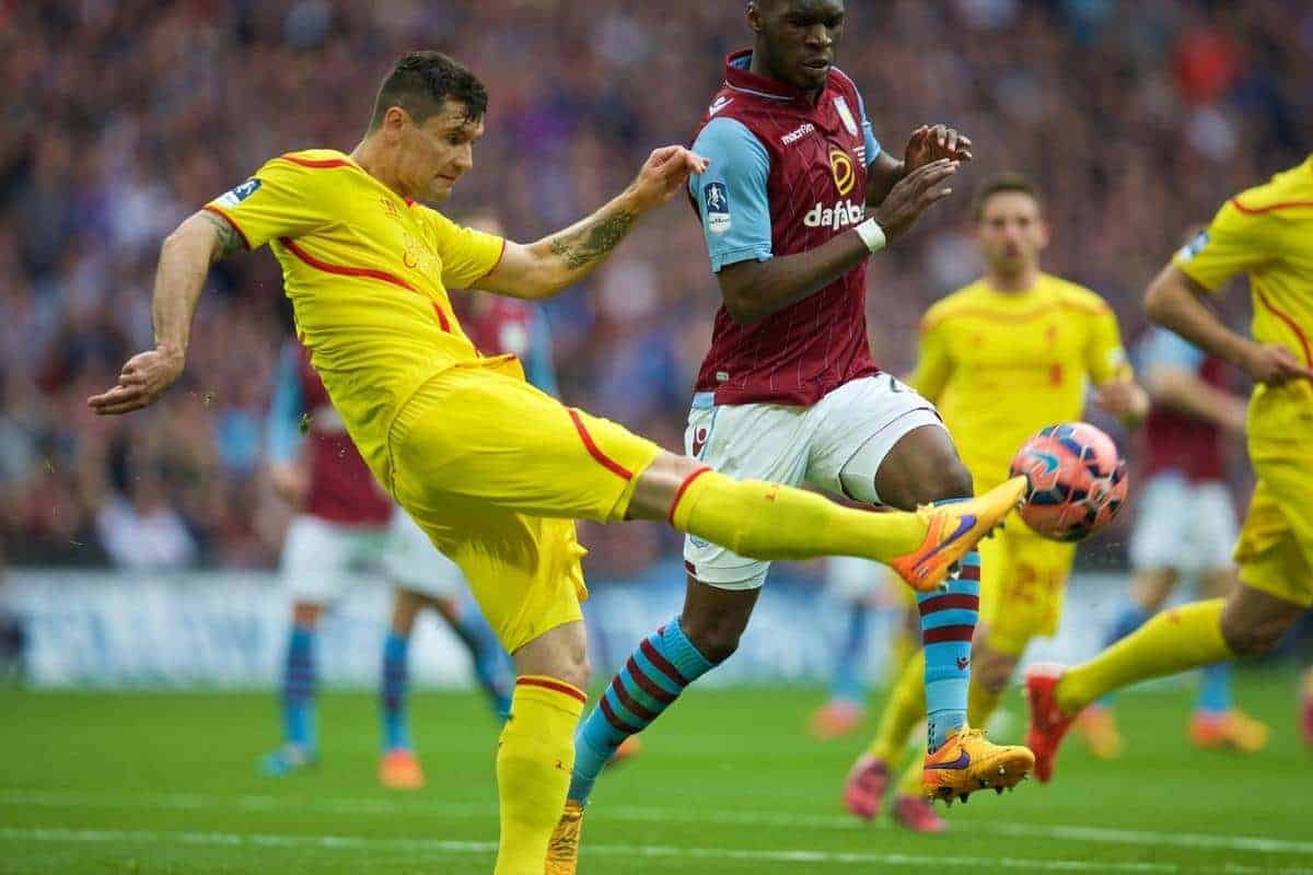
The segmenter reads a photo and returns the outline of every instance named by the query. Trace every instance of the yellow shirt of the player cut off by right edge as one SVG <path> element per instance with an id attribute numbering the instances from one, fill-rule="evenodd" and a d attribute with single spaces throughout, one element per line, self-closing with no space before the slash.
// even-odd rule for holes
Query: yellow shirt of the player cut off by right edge
<path id="1" fill-rule="evenodd" d="M 1280 344 L 1313 367 L 1313 155 L 1224 203 L 1173 264 L 1209 291 L 1247 273 L 1254 340 Z M 1250 441 L 1306 442 L 1310 429 L 1308 380 L 1254 388 Z"/>

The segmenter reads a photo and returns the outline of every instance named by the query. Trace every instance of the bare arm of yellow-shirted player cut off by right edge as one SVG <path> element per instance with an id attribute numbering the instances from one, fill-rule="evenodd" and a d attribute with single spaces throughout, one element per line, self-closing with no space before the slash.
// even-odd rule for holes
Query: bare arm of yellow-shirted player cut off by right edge
<path id="1" fill-rule="evenodd" d="M 1280 386 L 1292 379 L 1313 379 L 1313 369 L 1301 365 L 1284 346 L 1258 344 L 1229 329 L 1204 306 L 1205 294 L 1207 289 L 1169 264 L 1149 285 L 1145 310 L 1152 321 L 1236 365 L 1258 383 Z"/>

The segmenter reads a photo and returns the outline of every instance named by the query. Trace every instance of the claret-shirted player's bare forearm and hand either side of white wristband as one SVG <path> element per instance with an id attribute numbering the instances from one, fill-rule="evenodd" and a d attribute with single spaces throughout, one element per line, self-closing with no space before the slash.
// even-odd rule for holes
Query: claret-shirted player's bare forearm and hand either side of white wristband
<path id="1" fill-rule="evenodd" d="M 886 240 L 906 234 L 931 206 L 952 194 L 949 178 L 957 163 L 940 159 L 899 180 L 874 211 Z M 725 308 L 739 323 L 751 324 L 819 291 L 872 253 L 856 228 L 792 256 L 739 261 L 717 275 Z"/>

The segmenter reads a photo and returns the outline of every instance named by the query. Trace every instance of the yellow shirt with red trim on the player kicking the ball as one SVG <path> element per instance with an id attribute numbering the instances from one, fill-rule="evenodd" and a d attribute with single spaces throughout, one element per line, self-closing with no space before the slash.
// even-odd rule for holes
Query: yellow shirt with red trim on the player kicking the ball
<path id="1" fill-rule="evenodd" d="M 347 155 L 289 152 L 205 209 L 247 248 L 273 249 L 297 333 L 379 476 L 393 417 L 424 380 L 453 366 L 513 367 L 513 357 L 479 357 L 446 295 L 492 270 L 506 241 L 408 202 Z"/>

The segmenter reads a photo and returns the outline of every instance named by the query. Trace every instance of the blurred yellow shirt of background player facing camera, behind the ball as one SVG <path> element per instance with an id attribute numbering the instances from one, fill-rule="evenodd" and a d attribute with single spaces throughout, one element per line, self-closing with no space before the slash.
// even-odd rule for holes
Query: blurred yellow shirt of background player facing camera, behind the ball
<path id="1" fill-rule="evenodd" d="M 909 382 L 939 407 L 982 492 L 1007 479 L 1012 457 L 1041 428 L 1081 418 L 1090 382 L 1129 376 L 1103 298 L 1040 274 L 1024 293 L 978 279 L 931 307 Z"/>

